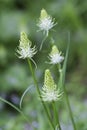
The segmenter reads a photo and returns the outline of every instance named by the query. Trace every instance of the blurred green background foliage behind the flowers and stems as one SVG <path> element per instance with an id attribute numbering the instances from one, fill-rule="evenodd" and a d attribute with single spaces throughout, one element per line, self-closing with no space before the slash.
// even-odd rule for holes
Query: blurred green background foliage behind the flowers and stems
<path id="1" fill-rule="evenodd" d="M 87 130 L 87 0 L 0 0 L 0 96 L 19 107 L 22 93 L 30 87 L 22 104 L 29 124 L 13 108 L 0 101 L 0 130 L 51 130 L 36 95 L 28 64 L 15 55 L 22 30 L 39 49 L 43 34 L 37 32 L 36 24 L 42 8 L 58 22 L 50 37 L 64 55 L 67 32 L 71 33 L 66 88 L 77 128 Z M 58 80 L 56 67 L 45 63 L 50 48 L 48 38 L 42 51 L 34 57 L 40 87 L 46 68 L 50 68 L 55 81 Z M 58 102 L 57 106 L 62 129 L 73 130 L 64 101 Z"/>

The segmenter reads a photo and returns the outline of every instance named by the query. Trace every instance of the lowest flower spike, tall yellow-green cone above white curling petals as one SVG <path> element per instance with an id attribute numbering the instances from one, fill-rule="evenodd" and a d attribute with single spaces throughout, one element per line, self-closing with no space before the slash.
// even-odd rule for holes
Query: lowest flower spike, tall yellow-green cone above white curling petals
<path id="1" fill-rule="evenodd" d="M 57 89 L 57 85 L 51 76 L 50 70 L 45 70 L 44 85 L 41 91 L 41 97 L 43 101 L 57 101 L 61 98 L 62 93 Z"/>

